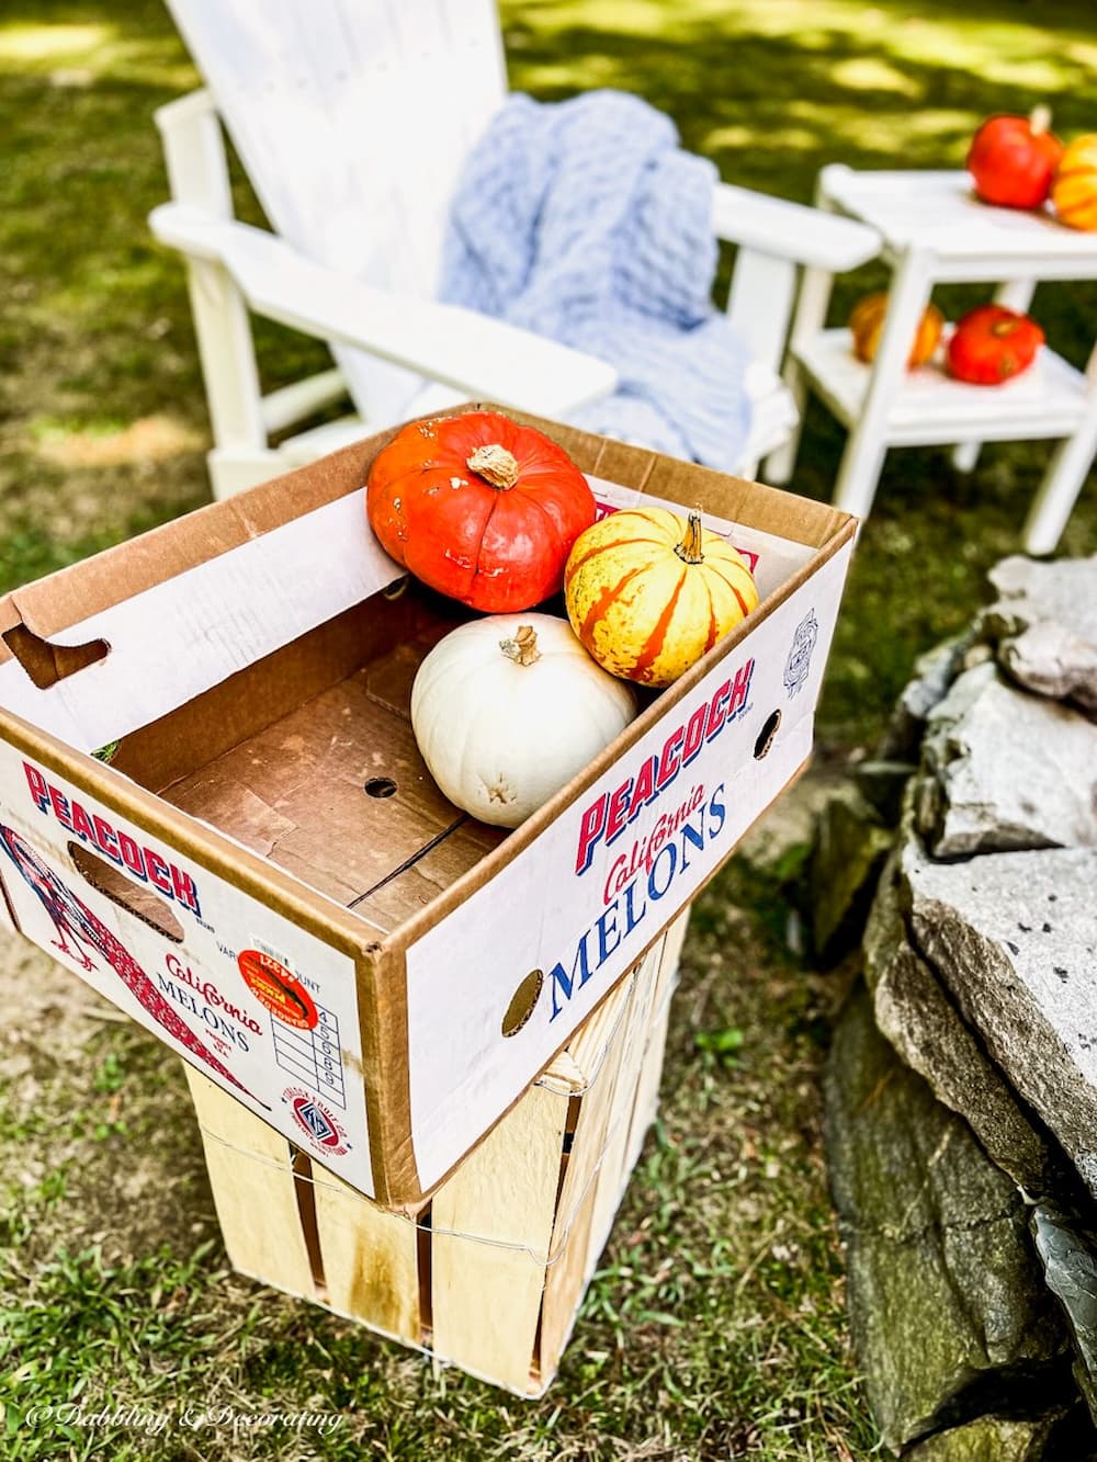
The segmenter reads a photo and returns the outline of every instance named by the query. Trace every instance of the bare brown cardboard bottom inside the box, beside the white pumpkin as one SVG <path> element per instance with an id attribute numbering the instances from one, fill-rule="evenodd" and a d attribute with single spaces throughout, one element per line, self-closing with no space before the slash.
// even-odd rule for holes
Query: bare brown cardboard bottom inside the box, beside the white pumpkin
<path id="1" fill-rule="evenodd" d="M 388 933 L 508 835 L 446 801 L 411 731 L 420 661 L 461 618 L 420 585 L 376 595 L 127 737 L 114 765 Z"/>

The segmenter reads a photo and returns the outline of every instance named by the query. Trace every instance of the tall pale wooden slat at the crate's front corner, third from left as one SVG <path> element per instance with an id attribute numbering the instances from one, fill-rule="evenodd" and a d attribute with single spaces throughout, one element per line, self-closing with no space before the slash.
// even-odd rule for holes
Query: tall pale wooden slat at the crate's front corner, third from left
<path id="1" fill-rule="evenodd" d="M 568 1104 L 531 1086 L 431 1208 L 434 1352 L 522 1395 L 531 1390 Z"/>

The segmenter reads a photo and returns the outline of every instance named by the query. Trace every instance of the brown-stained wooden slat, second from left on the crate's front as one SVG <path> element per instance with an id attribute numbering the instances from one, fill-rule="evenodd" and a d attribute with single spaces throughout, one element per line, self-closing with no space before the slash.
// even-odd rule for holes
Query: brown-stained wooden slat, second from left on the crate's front
<path id="1" fill-rule="evenodd" d="M 418 1230 L 329 1173 L 313 1170 L 316 1230 L 332 1310 L 411 1345 L 423 1344 Z"/>

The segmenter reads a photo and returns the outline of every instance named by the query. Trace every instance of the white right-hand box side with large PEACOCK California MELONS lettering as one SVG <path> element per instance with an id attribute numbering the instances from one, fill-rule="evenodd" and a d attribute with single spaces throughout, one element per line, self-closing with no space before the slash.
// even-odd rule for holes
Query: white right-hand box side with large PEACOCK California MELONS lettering
<path id="1" fill-rule="evenodd" d="M 806 760 L 848 556 L 847 545 L 408 949 L 424 1187 L 544 1069 Z M 528 1012 L 513 1009 L 519 987 Z"/>

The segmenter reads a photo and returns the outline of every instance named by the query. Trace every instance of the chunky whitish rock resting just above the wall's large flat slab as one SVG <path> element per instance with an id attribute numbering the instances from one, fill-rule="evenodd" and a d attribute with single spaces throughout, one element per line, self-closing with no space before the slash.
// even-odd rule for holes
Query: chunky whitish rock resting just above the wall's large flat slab
<path id="1" fill-rule="evenodd" d="M 964 671 L 929 715 L 919 830 L 938 858 L 1097 846 L 1097 725 Z"/>

